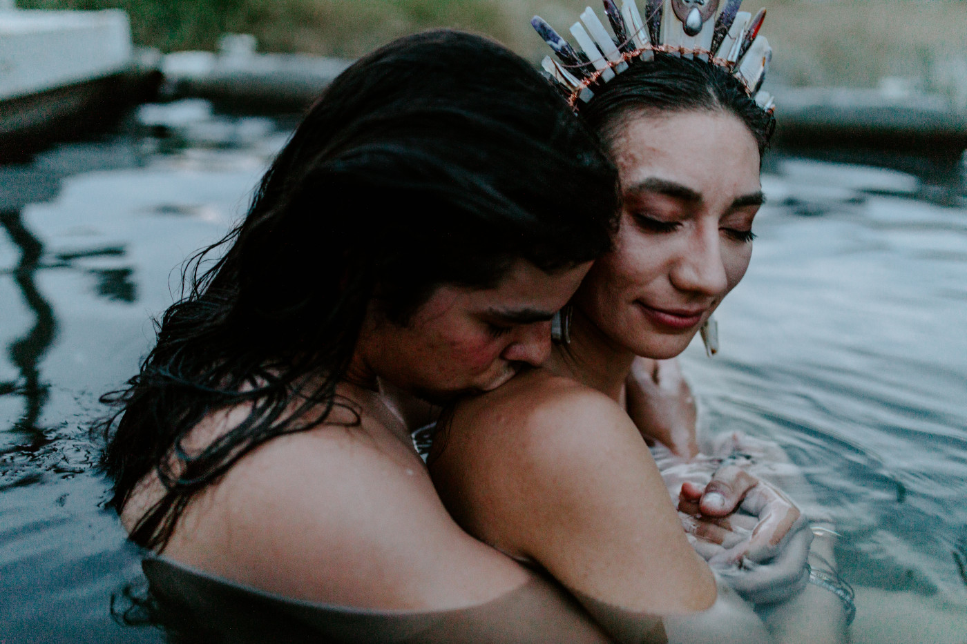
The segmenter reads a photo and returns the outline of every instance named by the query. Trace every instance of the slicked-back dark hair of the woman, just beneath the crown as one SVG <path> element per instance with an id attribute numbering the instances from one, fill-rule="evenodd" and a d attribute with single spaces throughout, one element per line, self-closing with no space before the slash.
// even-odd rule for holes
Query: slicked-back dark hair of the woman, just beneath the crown
<path id="1" fill-rule="evenodd" d="M 746 93 L 738 78 L 697 59 L 656 53 L 655 60 L 634 63 L 618 74 L 588 103 L 579 103 L 581 118 L 613 143 L 624 120 L 636 113 L 718 111 L 733 114 L 751 132 L 765 154 L 776 129 L 776 119 Z"/>

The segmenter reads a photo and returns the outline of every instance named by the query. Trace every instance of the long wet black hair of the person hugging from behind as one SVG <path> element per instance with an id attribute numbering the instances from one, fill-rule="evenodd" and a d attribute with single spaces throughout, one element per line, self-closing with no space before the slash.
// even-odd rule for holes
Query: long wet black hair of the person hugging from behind
<path id="1" fill-rule="evenodd" d="M 351 409 L 336 386 L 370 304 L 404 325 L 441 284 L 491 287 L 517 259 L 548 273 L 595 259 L 610 247 L 616 186 L 597 137 L 499 44 L 427 32 L 356 62 L 245 220 L 187 265 L 140 372 L 103 396 L 113 507 L 153 470 L 166 488 L 132 540 L 163 547 L 191 497 L 242 455 Z M 241 424 L 188 447 L 203 418 L 242 403 Z"/>

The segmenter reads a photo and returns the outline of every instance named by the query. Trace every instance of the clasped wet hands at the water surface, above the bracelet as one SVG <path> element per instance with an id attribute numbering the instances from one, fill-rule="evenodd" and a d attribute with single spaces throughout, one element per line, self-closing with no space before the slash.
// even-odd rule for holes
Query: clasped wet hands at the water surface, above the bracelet
<path id="1" fill-rule="evenodd" d="M 776 487 L 726 459 L 708 485 L 682 484 L 679 512 L 696 551 L 745 600 L 771 603 L 805 588 L 812 533 Z"/>

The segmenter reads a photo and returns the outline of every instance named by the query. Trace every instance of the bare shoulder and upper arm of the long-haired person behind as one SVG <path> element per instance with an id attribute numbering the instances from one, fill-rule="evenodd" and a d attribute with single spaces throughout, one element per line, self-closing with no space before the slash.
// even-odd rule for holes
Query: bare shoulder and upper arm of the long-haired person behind
<path id="1" fill-rule="evenodd" d="M 365 413 L 246 454 L 192 500 L 163 554 L 280 595 L 383 609 L 475 605 L 528 579 L 459 529 L 420 457 Z"/>

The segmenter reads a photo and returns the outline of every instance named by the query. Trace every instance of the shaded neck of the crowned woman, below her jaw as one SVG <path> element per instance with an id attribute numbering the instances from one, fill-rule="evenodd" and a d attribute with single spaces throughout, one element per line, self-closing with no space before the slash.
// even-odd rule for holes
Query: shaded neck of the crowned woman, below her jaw
<path id="1" fill-rule="evenodd" d="M 571 341 L 555 344 L 548 367 L 622 402 L 634 354 L 616 345 L 579 307 L 571 315 Z"/>

